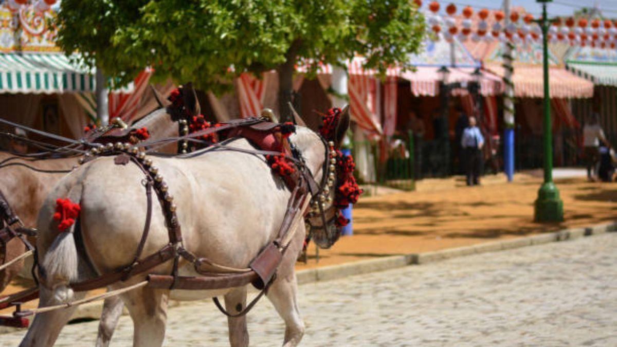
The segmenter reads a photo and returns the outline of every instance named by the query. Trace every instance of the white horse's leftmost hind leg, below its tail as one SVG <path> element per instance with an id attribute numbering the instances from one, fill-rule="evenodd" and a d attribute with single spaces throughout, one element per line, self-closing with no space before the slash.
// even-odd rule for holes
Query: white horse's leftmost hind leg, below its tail
<path id="1" fill-rule="evenodd" d="M 39 297 L 39 306 L 46 307 L 58 304 L 53 298 L 53 292 L 41 288 Z M 76 292 L 73 300 L 78 300 L 86 296 L 85 292 Z M 53 346 L 60 334 L 60 330 L 67 324 L 77 306 L 68 307 L 65 309 L 57 309 L 54 311 L 37 314 L 35 319 L 28 329 L 28 333 L 23 337 L 20 346 Z"/>

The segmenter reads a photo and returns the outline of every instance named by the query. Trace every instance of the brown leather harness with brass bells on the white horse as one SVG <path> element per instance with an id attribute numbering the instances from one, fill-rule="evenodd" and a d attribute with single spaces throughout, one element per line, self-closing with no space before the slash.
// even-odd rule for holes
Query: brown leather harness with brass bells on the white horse
<path id="1" fill-rule="evenodd" d="M 257 130 L 264 129 L 272 129 L 276 127 L 276 124 L 265 122 L 262 119 L 241 119 L 241 120 L 233 120 L 228 123 L 224 123 L 220 127 L 212 127 L 207 128 L 205 130 L 201 130 L 199 132 L 191 133 L 190 135 L 177 136 L 172 138 L 166 138 L 162 140 L 151 140 L 144 141 L 140 143 L 139 146 L 144 146 L 149 148 L 149 151 L 160 146 L 162 144 L 167 144 L 175 141 L 196 141 L 196 138 L 200 136 L 207 135 L 213 132 L 222 132 L 226 130 L 230 130 L 230 133 L 238 133 L 241 135 L 242 129 L 244 128 L 252 128 Z M 238 130 L 238 131 L 236 131 Z M 182 290 L 212 290 L 212 289 L 221 289 L 221 288 L 233 288 L 236 286 L 247 285 L 248 283 L 252 283 L 257 289 L 261 290 L 261 293 L 243 310 L 236 314 L 230 314 L 226 312 L 225 309 L 220 305 L 217 298 L 213 298 L 213 301 L 217 305 L 217 307 L 227 316 L 237 317 L 246 314 L 257 301 L 263 296 L 263 294 L 268 290 L 268 287 L 275 279 L 276 270 L 280 265 L 280 262 L 283 259 L 283 255 L 288 249 L 289 243 L 285 243 L 286 236 L 288 236 L 289 230 L 292 227 L 296 216 L 306 205 L 305 201 L 309 194 L 315 198 L 318 196 L 323 190 L 326 180 L 329 177 L 328 170 L 328 143 L 326 143 L 325 139 L 321 137 L 321 141 L 325 144 L 326 148 L 326 156 L 325 162 L 323 166 L 323 177 L 321 179 L 320 184 L 318 185 L 313 178 L 310 170 L 305 166 L 304 159 L 302 158 L 299 150 L 294 146 L 288 146 L 289 153 L 285 153 L 289 161 L 293 162 L 296 166 L 299 175 L 296 176 L 294 182 L 295 184 L 291 189 L 291 198 L 288 201 L 288 205 L 286 208 L 286 213 L 283 218 L 283 222 L 281 222 L 280 228 L 274 240 L 270 241 L 265 247 L 260 251 L 259 254 L 254 258 L 254 260 L 249 264 L 249 268 L 247 269 L 230 269 L 233 271 L 229 272 L 212 272 L 204 271 L 201 269 L 202 264 L 213 264 L 207 258 L 197 257 L 195 254 L 188 251 L 184 248 L 182 244 L 182 232 L 180 223 L 178 222 L 178 217 L 176 215 L 176 207 L 173 204 L 173 197 L 171 197 L 167 193 L 167 185 L 165 184 L 162 176 L 158 173 L 158 170 L 152 166 L 152 162 L 146 158 L 145 152 L 139 151 L 138 148 L 132 146 L 130 144 L 116 143 L 111 144 L 108 143 L 105 146 L 100 144 L 93 144 L 93 149 L 86 153 L 83 162 L 90 161 L 94 159 L 96 156 L 115 156 L 114 162 L 116 164 L 128 164 L 128 162 L 132 162 L 135 164 L 143 174 L 145 175 L 145 179 L 143 181 L 144 186 L 146 187 L 146 196 L 147 196 L 147 214 L 146 221 L 144 223 L 144 229 L 141 236 L 141 240 L 139 241 L 139 245 L 135 252 L 135 257 L 133 257 L 133 261 L 131 264 L 126 265 L 125 267 L 121 267 L 120 269 L 114 270 L 113 272 L 98 275 L 95 278 L 91 278 L 88 280 L 83 280 L 81 282 L 70 283 L 70 287 L 75 291 L 89 291 L 96 288 L 102 288 L 108 286 L 115 282 L 124 282 L 134 277 L 135 275 L 143 274 L 152 268 L 161 265 L 167 261 L 173 260 L 173 268 L 170 275 L 155 275 L 149 274 L 147 275 L 147 280 L 149 281 L 148 287 L 150 288 L 159 288 L 159 289 L 182 289 Z M 203 143 L 203 141 L 199 141 Z M 259 155 L 280 155 L 280 152 L 277 151 L 269 151 L 263 149 L 240 149 L 234 148 L 233 146 L 228 146 L 223 143 L 215 143 L 210 144 L 209 146 L 214 146 L 215 148 L 228 149 L 232 151 L 239 151 L 242 153 L 248 154 L 259 154 Z M 293 150 L 291 150 L 293 149 Z M 191 154 L 186 154 L 185 156 L 190 156 Z M 151 215 L 152 215 L 152 191 L 159 198 L 159 202 L 164 211 L 165 217 L 165 225 L 168 230 L 168 243 L 159 249 L 159 251 L 154 254 L 150 254 L 146 257 L 141 257 L 141 253 L 143 252 L 144 245 L 146 244 L 147 236 L 149 233 L 149 228 L 151 224 Z M 327 227 L 328 221 L 326 221 L 325 212 L 323 209 L 323 205 L 320 205 L 320 214 L 323 225 L 321 227 Z M 305 211 L 301 211 L 305 214 Z M 184 261 L 188 261 L 194 265 L 194 270 L 202 275 L 203 277 L 183 277 L 178 275 L 178 263 L 180 259 L 184 259 Z M 46 285 L 44 280 L 44 272 L 39 268 L 39 275 L 41 275 L 41 284 Z M 23 317 L 29 316 L 31 313 L 28 311 L 19 311 L 15 312 L 15 316 Z"/>

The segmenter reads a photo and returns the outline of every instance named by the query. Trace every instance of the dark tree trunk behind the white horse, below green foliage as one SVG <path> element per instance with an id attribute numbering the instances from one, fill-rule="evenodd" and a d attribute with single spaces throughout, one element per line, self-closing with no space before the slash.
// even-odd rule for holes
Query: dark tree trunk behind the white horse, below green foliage
<path id="1" fill-rule="evenodd" d="M 293 119 L 289 102 L 294 104 L 294 70 L 299 46 L 300 41 L 294 41 L 285 54 L 286 61 L 276 69 L 278 72 L 278 111 L 281 123 L 292 122 Z"/>

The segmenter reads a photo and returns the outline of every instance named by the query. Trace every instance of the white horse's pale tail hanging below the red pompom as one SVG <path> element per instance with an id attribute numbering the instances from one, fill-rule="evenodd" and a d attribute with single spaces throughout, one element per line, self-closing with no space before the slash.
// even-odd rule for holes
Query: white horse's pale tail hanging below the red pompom
<path id="1" fill-rule="evenodd" d="M 67 197 L 73 203 L 79 204 L 81 190 L 81 184 L 74 185 L 68 191 Z M 53 200 L 53 202 L 56 201 Z M 48 203 L 51 203 L 51 201 L 48 200 Z M 73 237 L 75 226 L 78 223 L 80 223 L 80 219 L 77 218 L 64 232 L 58 233 L 41 262 L 44 270 L 44 283 L 54 291 L 54 299 L 59 303 L 67 303 L 73 298 L 73 290 L 68 284 L 78 278 L 79 257 Z M 57 228 L 58 224 L 56 220 L 52 220 L 48 225 Z M 57 232 L 57 229 L 54 232 Z"/>

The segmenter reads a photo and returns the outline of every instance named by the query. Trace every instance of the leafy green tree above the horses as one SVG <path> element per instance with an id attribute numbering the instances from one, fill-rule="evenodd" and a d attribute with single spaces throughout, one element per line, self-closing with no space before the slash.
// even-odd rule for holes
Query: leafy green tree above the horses
<path id="1" fill-rule="evenodd" d="M 411 0 L 63 0 L 58 43 L 127 83 L 145 66 L 155 80 L 221 91 L 242 72 L 276 69 L 280 105 L 294 66 L 361 55 L 384 73 L 408 67 L 424 19 Z M 285 112 L 287 107 L 280 107 Z"/>

